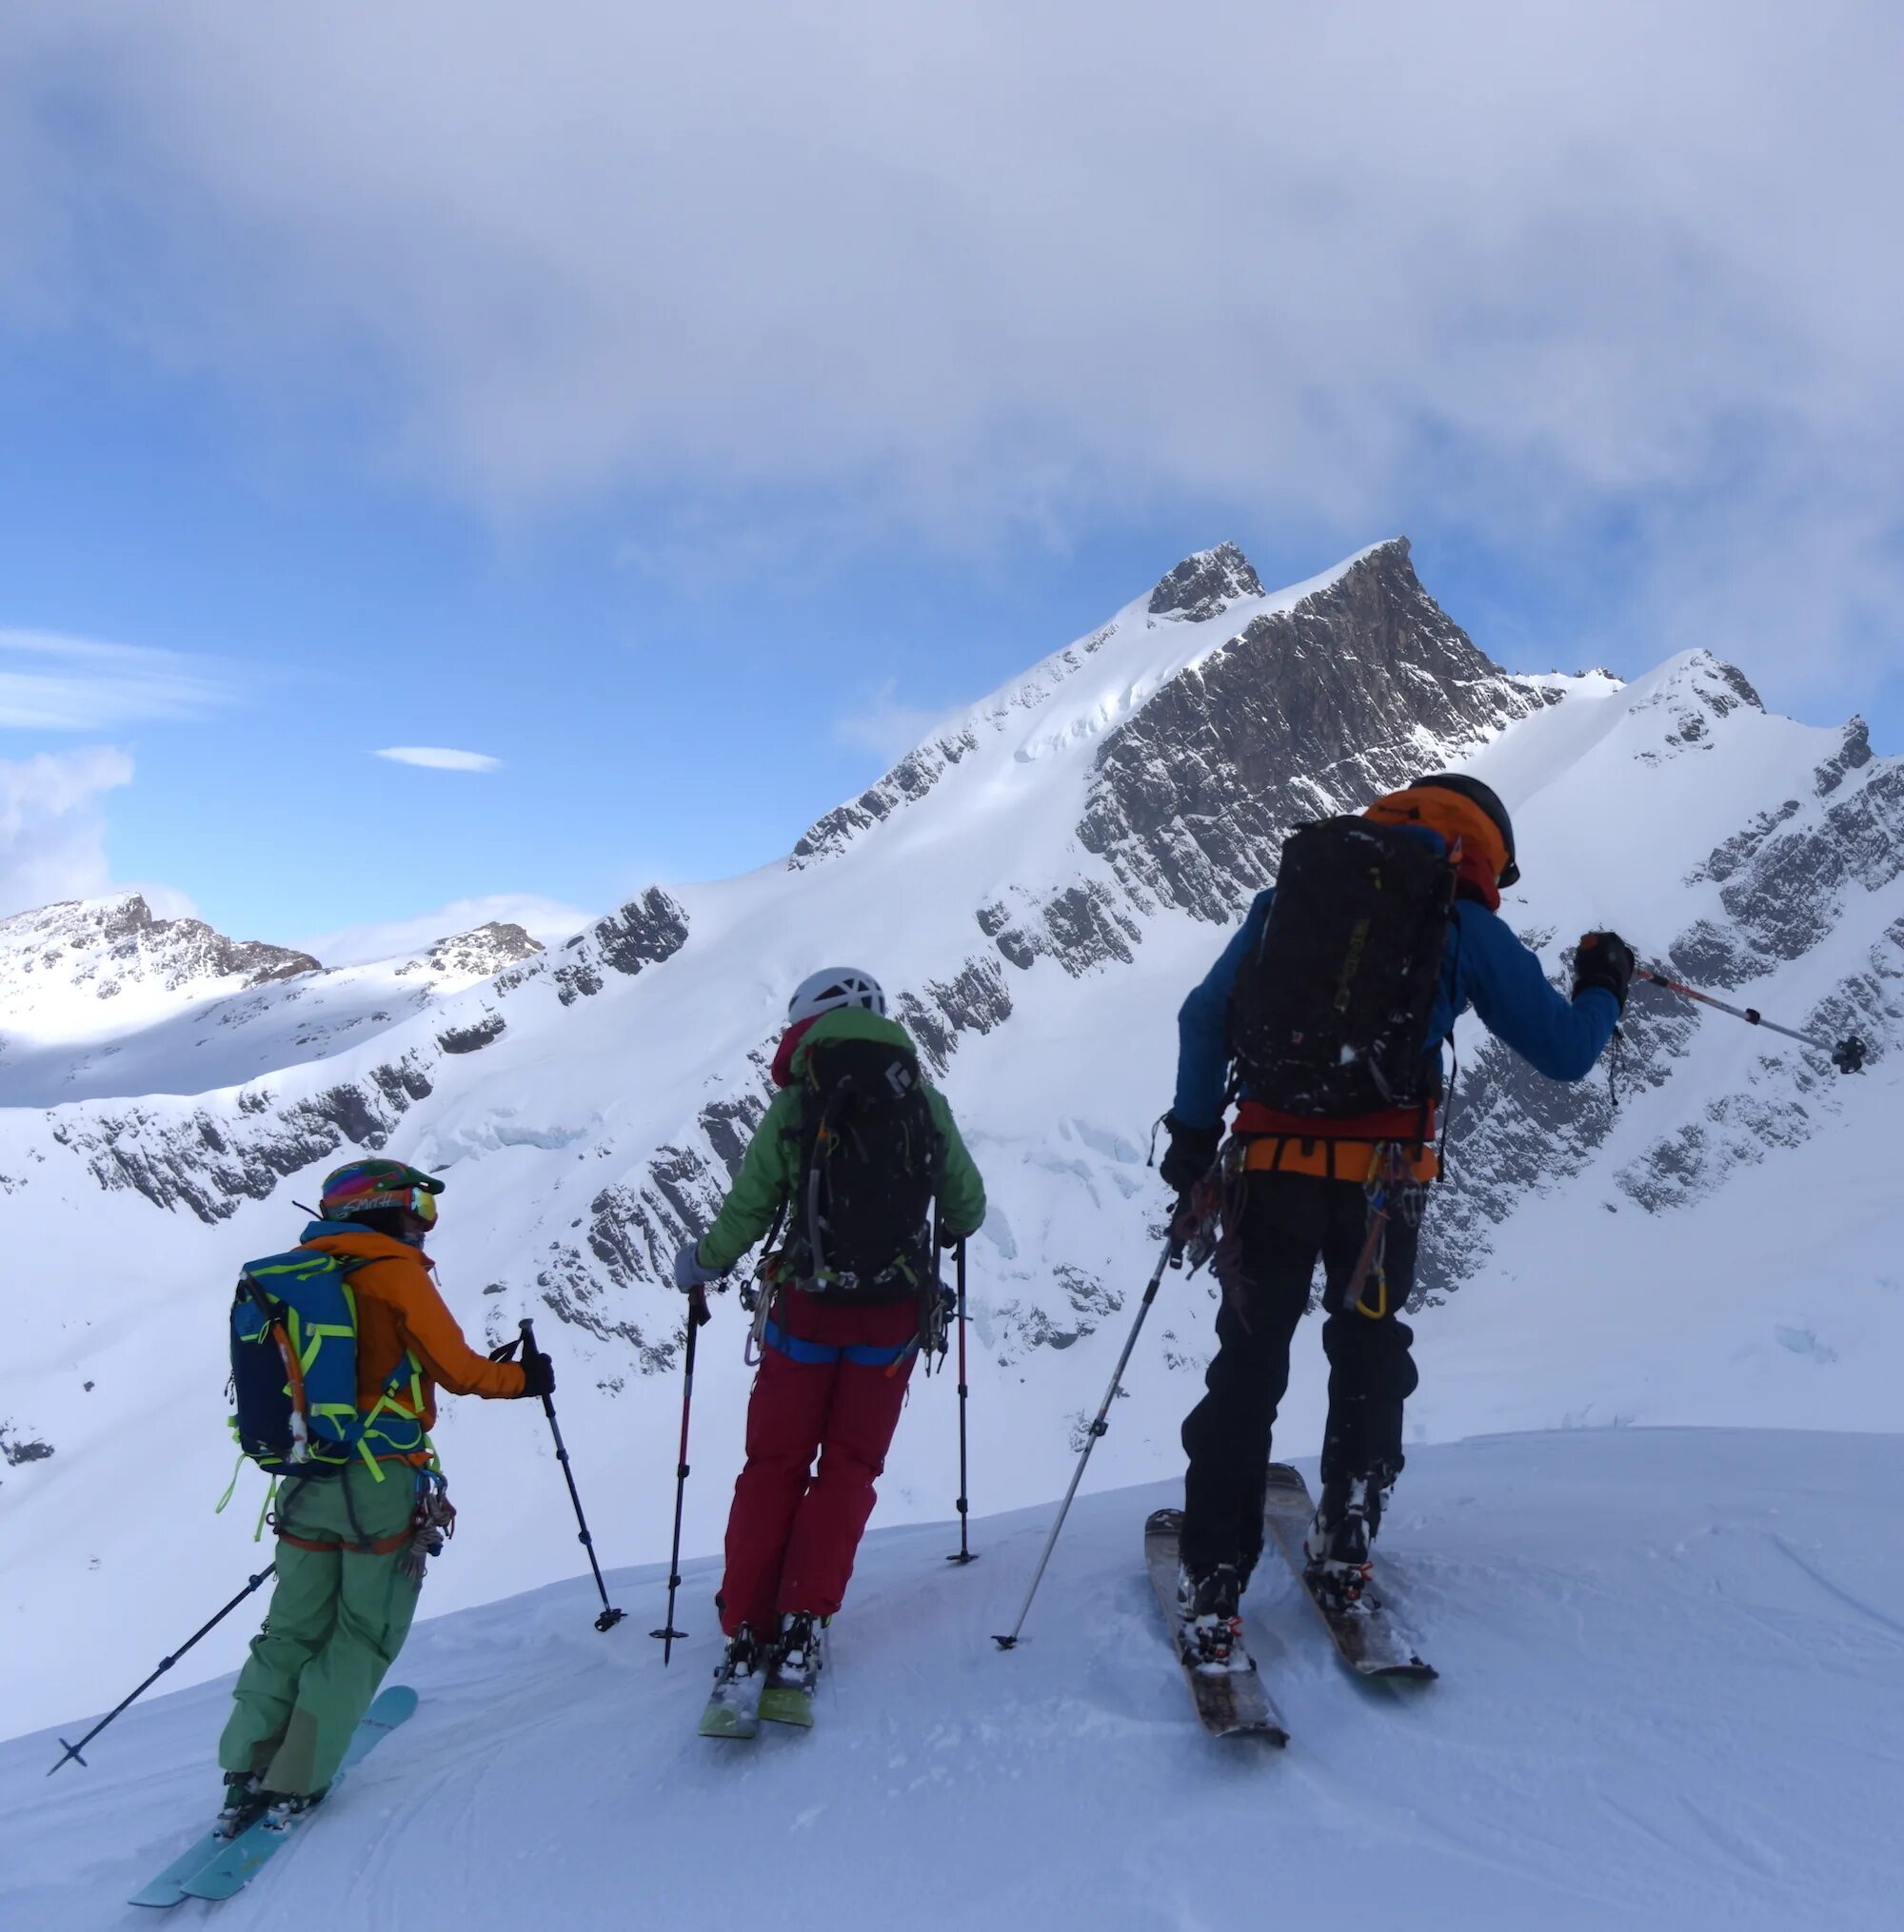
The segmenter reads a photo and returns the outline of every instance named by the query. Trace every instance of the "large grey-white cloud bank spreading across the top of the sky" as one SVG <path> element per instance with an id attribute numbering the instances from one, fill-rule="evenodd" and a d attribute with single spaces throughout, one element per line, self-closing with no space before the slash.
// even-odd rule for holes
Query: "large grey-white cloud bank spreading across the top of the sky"
<path id="1" fill-rule="evenodd" d="M 959 543 L 1193 498 L 1326 551 L 1434 502 L 1612 527 L 1668 618 L 1751 572 L 1736 643 L 1794 672 L 1898 649 L 1858 624 L 1904 607 L 1890 0 L 390 19 L 12 10 L 0 301 L 350 383 L 499 510 Z"/>

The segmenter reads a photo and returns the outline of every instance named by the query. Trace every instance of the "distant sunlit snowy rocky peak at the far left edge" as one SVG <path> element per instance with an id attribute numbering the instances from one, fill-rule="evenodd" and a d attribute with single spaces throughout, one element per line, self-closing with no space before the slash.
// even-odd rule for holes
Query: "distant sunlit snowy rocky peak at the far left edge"
<path id="1" fill-rule="evenodd" d="M 139 893 L 0 920 L 0 1012 L 15 1032 L 118 1030 L 188 1001 L 319 972 L 309 952 L 160 920 Z"/>

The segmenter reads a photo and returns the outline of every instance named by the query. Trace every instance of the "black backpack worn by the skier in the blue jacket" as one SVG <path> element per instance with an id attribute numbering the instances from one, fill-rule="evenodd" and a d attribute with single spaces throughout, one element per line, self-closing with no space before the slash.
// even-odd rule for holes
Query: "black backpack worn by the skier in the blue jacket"
<path id="1" fill-rule="evenodd" d="M 1419 833 L 1322 819 L 1284 842 L 1262 941 L 1229 997 L 1249 1097 L 1341 1119 L 1442 1097 L 1425 1053 L 1454 862 Z"/>

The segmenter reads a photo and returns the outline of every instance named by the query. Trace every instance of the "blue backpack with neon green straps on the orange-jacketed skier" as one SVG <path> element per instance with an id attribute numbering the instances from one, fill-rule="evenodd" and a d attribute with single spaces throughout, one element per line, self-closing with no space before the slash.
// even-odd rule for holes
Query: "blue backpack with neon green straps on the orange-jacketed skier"
<path id="1" fill-rule="evenodd" d="M 245 1262 L 232 1298 L 232 1434 L 273 1476 L 307 1474 L 363 1457 L 383 1480 L 379 1457 L 429 1447 L 423 1378 L 414 1354 L 390 1372 L 369 1410 L 358 1408 L 358 1298 L 350 1277 L 363 1262 L 292 1248 Z M 408 1385 L 410 1410 L 394 1397 Z M 315 1464 L 315 1466 L 311 1466 Z"/>

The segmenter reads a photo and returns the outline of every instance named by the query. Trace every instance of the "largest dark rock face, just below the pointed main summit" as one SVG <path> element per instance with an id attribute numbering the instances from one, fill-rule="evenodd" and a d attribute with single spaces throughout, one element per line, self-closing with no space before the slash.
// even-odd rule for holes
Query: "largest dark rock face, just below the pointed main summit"
<path id="1" fill-rule="evenodd" d="M 1419 777 L 1421 732 L 1459 755 L 1548 701 L 1475 649 L 1398 539 L 1113 730 L 1079 838 L 1140 910 L 1226 923 L 1270 883 L 1293 825 Z"/>

